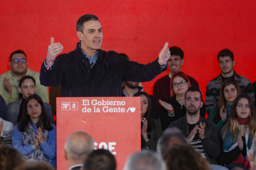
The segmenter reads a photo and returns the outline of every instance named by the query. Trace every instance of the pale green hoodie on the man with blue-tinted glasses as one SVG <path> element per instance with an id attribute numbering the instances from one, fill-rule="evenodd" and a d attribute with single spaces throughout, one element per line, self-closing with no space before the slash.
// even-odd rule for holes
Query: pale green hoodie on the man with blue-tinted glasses
<path id="1" fill-rule="evenodd" d="M 49 90 L 48 87 L 42 86 L 39 80 L 39 73 L 35 71 L 31 71 L 29 68 L 27 69 L 26 76 L 32 76 L 36 80 L 36 94 L 38 94 L 43 102 L 49 103 Z M 4 86 L 4 78 L 9 79 L 12 85 L 12 94 L 7 93 Z M 19 100 L 19 82 L 17 78 L 14 78 L 11 74 L 11 70 L 5 72 L 0 75 L 0 94 L 4 98 L 6 105 L 11 102 L 16 102 Z"/>

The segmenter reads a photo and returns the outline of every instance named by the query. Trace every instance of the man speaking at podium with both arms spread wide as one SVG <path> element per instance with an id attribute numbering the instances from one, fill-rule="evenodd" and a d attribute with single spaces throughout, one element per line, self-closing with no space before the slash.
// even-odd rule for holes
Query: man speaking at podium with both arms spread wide
<path id="1" fill-rule="evenodd" d="M 103 33 L 95 15 L 81 16 L 76 28 L 80 40 L 76 49 L 56 57 L 63 45 L 54 43 L 51 37 L 47 57 L 41 66 L 40 83 L 44 86 L 61 84 L 62 97 L 122 96 L 122 81 L 151 81 L 166 70 L 170 57 L 168 43 L 154 62 L 144 65 L 127 61 L 114 51 L 100 49 Z"/>

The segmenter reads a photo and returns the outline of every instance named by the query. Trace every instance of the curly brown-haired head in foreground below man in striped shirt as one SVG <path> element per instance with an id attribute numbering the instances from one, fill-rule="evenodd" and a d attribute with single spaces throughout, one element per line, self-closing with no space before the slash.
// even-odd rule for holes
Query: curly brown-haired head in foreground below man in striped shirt
<path id="1" fill-rule="evenodd" d="M 176 145 L 164 158 L 168 170 L 211 170 L 210 164 L 193 147 Z"/>

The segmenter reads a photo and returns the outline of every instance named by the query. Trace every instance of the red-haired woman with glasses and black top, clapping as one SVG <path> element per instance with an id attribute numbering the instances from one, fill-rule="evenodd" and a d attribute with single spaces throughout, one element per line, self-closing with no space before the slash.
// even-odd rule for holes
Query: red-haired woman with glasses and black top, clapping
<path id="1" fill-rule="evenodd" d="M 159 100 L 159 103 L 163 106 L 160 113 L 160 121 L 163 130 L 168 125 L 186 114 L 186 108 L 183 105 L 185 100 L 185 93 L 190 87 L 188 77 L 184 72 L 176 72 L 172 75 L 170 87 L 170 99 L 166 101 Z M 205 117 L 205 105 L 200 108 L 200 115 Z"/>

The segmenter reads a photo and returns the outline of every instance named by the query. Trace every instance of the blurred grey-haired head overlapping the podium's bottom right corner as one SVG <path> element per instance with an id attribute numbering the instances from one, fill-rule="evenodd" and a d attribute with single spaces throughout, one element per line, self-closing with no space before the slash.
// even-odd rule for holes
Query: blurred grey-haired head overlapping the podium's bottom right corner
<path id="1" fill-rule="evenodd" d="M 123 170 L 166 170 L 166 165 L 155 152 L 142 150 L 129 157 Z"/>

